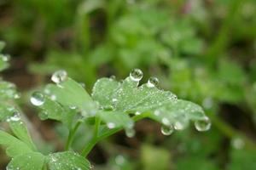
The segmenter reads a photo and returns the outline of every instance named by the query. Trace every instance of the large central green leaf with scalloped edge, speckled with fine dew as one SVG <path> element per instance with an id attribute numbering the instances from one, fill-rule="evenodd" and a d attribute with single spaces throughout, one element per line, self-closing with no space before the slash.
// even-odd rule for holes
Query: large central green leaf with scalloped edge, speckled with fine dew
<path id="1" fill-rule="evenodd" d="M 128 77 L 122 83 L 113 79 L 102 78 L 93 88 L 92 98 L 102 108 L 113 108 L 114 112 L 138 113 L 157 122 L 181 128 L 186 127 L 190 120 L 203 120 L 206 116 L 201 106 L 192 102 L 177 99 L 175 94 L 159 88 L 143 84 Z M 103 90 L 104 89 L 104 90 Z M 105 120 L 111 122 L 111 119 Z"/>

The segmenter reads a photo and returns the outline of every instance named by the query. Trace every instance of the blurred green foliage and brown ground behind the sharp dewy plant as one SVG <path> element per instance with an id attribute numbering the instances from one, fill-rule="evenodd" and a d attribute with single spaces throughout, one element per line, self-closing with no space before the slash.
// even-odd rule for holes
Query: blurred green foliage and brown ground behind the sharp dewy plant
<path id="1" fill-rule="evenodd" d="M 84 82 L 122 79 L 133 68 L 160 87 L 202 105 L 212 128 L 163 136 L 138 122 L 96 145 L 96 170 L 256 169 L 255 0 L 0 0 L 0 40 L 12 56 L 1 76 L 15 82 L 18 103 L 44 151 L 61 150 L 67 132 L 41 122 L 29 94 L 56 70 Z M 74 147 L 84 144 L 86 129 Z M 80 138 L 80 139 L 79 139 Z M 8 158 L 0 150 L 0 167 Z"/>

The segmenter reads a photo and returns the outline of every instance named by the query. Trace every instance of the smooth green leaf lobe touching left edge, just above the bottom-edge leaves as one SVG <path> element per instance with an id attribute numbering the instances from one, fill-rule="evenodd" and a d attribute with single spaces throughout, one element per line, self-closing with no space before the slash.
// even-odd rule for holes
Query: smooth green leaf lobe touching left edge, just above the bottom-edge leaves
<path id="1" fill-rule="evenodd" d="M 0 131 L 0 144 L 7 148 L 6 153 L 10 157 L 20 156 L 32 152 L 32 149 L 24 142 L 3 131 Z"/>

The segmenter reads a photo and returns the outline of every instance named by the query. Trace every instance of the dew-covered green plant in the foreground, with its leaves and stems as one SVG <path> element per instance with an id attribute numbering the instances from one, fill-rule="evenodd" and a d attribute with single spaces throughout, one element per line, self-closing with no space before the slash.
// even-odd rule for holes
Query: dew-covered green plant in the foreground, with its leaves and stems
<path id="1" fill-rule="evenodd" d="M 6 68 L 7 59 L 1 55 L 0 68 Z M 67 77 L 66 71 L 56 71 L 42 92 L 32 94 L 32 105 L 38 107 L 42 120 L 61 122 L 69 130 L 65 151 L 43 155 L 32 141 L 20 110 L 14 105 L 18 98 L 14 86 L 0 82 L 0 121 L 7 122 L 13 135 L 0 131 L 0 144 L 12 158 L 7 169 L 90 169 L 85 159 L 90 150 L 102 139 L 125 129 L 128 137 L 133 137 L 134 123 L 149 118 L 162 124 L 161 132 L 170 135 L 174 129 L 182 130 L 195 122 L 195 128 L 206 131 L 211 122 L 201 106 L 177 99 L 175 94 L 158 87 L 158 79 L 151 77 L 139 86 L 143 72 L 134 69 L 129 77 L 118 82 L 114 77 L 99 79 L 88 94 L 79 82 Z M 93 129 L 91 139 L 79 151 L 72 149 L 74 136 L 80 126 Z M 87 133 L 87 132 L 84 132 Z M 86 134 L 84 134 L 85 136 Z"/>

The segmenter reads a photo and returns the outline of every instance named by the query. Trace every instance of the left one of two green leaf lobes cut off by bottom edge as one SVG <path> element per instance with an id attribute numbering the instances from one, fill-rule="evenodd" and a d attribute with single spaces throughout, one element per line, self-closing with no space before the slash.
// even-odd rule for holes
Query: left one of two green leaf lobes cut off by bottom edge
<path id="1" fill-rule="evenodd" d="M 42 170 L 44 167 L 44 159 L 45 157 L 38 152 L 26 153 L 12 159 L 7 169 Z"/>

